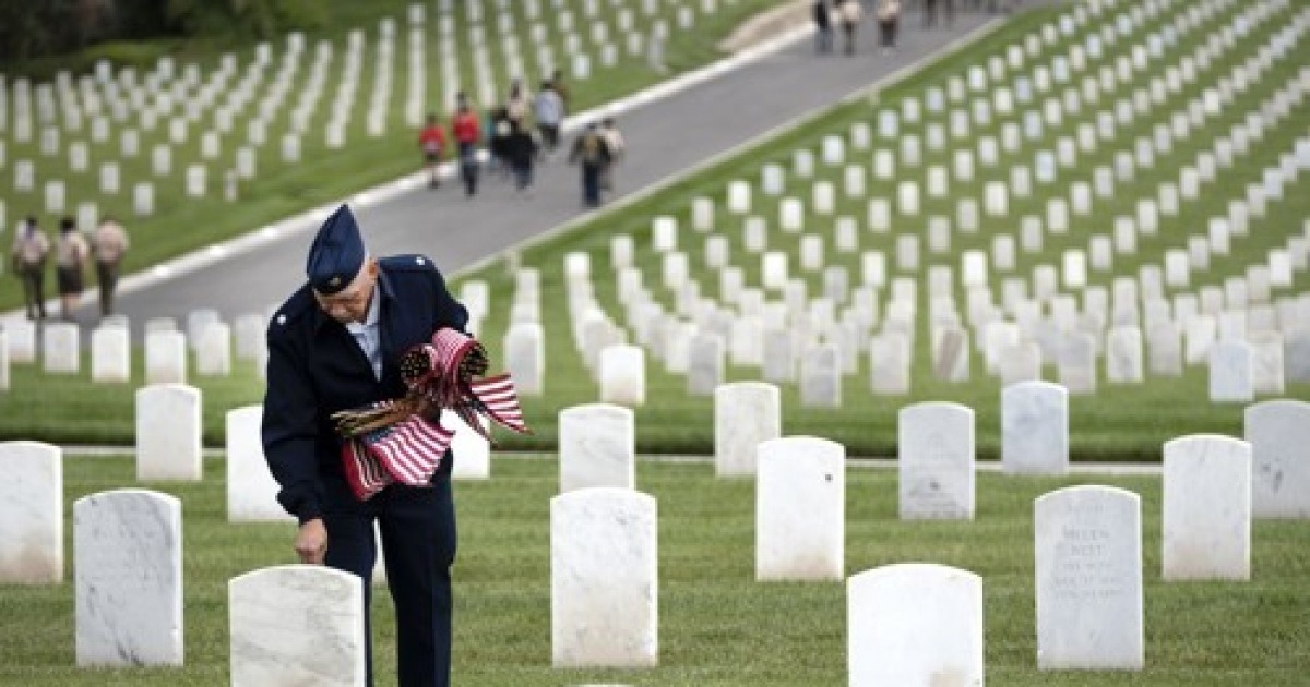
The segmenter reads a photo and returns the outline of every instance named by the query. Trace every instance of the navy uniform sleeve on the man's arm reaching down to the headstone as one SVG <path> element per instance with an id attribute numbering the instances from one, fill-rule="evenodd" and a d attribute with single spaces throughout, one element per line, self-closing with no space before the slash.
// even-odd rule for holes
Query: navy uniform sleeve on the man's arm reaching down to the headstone
<path id="1" fill-rule="evenodd" d="M 269 332 L 263 454 L 274 479 L 282 485 L 278 502 L 304 523 L 322 516 L 322 487 L 314 455 L 317 402 L 304 368 L 305 356 L 297 355 L 292 338 L 280 334 Z"/>

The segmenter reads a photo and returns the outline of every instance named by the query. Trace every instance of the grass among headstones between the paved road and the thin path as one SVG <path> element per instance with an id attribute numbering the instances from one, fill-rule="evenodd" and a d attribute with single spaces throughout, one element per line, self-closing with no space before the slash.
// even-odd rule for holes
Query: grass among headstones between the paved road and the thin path
<path id="1" fill-rule="evenodd" d="M 541 243 L 523 249 L 517 263 L 537 268 L 541 273 L 541 305 L 542 322 L 546 332 L 548 374 L 546 393 L 540 398 L 524 398 L 524 410 L 529 424 L 534 429 L 532 436 L 510 436 L 503 433 L 499 440 L 502 448 L 511 450 L 541 450 L 550 451 L 555 446 L 555 417 L 563 408 L 591 403 L 599 398 L 599 389 L 584 369 L 580 355 L 575 351 L 567 323 L 567 305 L 565 296 L 563 259 L 570 251 L 584 251 L 591 255 L 593 275 L 596 275 L 595 288 L 597 301 L 609 311 L 610 317 L 618 319 L 621 309 L 617 302 L 616 287 L 612 276 L 605 270 L 609 264 L 609 242 L 613 236 L 629 234 L 634 239 L 637 251 L 637 266 L 645 275 L 645 283 L 652 287 L 652 294 L 671 308 L 672 296 L 656 285 L 660 283 L 660 258 L 650 246 L 650 225 L 655 216 L 668 215 L 677 217 L 681 222 L 680 246 L 689 255 L 692 273 L 700 281 L 701 293 L 714 297 L 718 283 L 715 272 L 703 270 L 702 243 L 703 234 L 689 229 L 690 204 L 696 198 L 713 198 L 717 204 L 717 222 L 719 230 L 731 242 L 734 262 L 743 268 L 748 284 L 758 283 L 758 256 L 749 254 L 743 247 L 740 232 L 743 217 L 728 215 L 724 209 L 726 187 L 734 179 L 757 179 L 760 169 L 766 164 L 781 164 L 790 169 L 793 152 L 800 148 L 817 150 L 824 136 L 844 135 L 855 123 L 872 123 L 876 131 L 878 113 L 884 107 L 897 107 L 903 98 L 920 97 L 930 86 L 939 86 L 943 90 L 952 77 L 960 77 L 968 68 L 977 64 L 986 64 L 992 56 L 1005 55 L 1007 46 L 1023 44 L 1024 39 L 1039 33 L 1040 29 L 1055 21 L 1060 8 L 1039 8 L 1026 12 L 1010 20 L 1000 29 L 988 34 L 965 50 L 950 55 L 943 60 L 925 67 L 922 71 L 905 76 L 901 81 L 887 84 L 870 94 L 869 98 L 842 105 L 828 113 L 821 113 L 810 119 L 803 126 L 785 131 L 772 140 L 741 152 L 740 154 L 711 166 L 703 171 L 692 174 L 688 178 L 673 182 L 668 188 L 650 196 L 638 199 L 631 204 L 604 212 L 597 219 L 580 224 L 572 230 L 553 237 Z M 1290 10 L 1289 10 L 1290 12 Z M 1213 20 L 1218 22 L 1220 20 Z M 1157 22 L 1158 25 L 1159 22 Z M 1153 26 L 1157 26 L 1153 25 Z M 1210 25 L 1207 25 L 1210 26 Z M 1224 62 L 1212 65 L 1210 75 L 1222 73 L 1229 65 L 1244 60 L 1255 51 L 1255 46 L 1271 31 L 1276 30 L 1279 21 L 1273 20 L 1252 30 L 1251 35 L 1238 42 Z M 1197 31 L 1184 37 L 1178 48 L 1171 55 L 1182 54 L 1193 48 L 1201 39 Z M 1066 46 L 1068 41 L 1058 43 Z M 1056 48 L 1045 48 L 1043 55 Z M 1111 50 L 1107 47 L 1107 50 Z M 1119 46 L 1115 50 L 1124 50 Z M 1302 52 L 1303 48 L 1301 48 Z M 1108 56 L 1115 52 L 1107 52 Z M 1169 156 L 1158 156 L 1155 167 L 1140 170 L 1138 178 L 1132 185 L 1120 185 L 1119 194 L 1114 199 L 1098 200 L 1094 213 L 1089 217 L 1073 217 L 1073 225 L 1066 234 L 1048 234 L 1043 250 L 1031 254 L 1018 255 L 1018 270 L 1013 273 L 998 273 L 992 271 L 992 293 L 1000 300 L 1000 280 L 1015 276 L 1027 277 L 1038 264 L 1058 264 L 1061 251 L 1069 247 L 1085 247 L 1087 237 L 1093 233 L 1106 233 L 1112 219 L 1119 215 L 1132 215 L 1136 200 L 1153 196 L 1155 186 L 1165 179 L 1176 181 L 1176 169 L 1191 164 L 1196 153 L 1210 145 L 1214 136 L 1226 133 L 1238 120 L 1244 119 L 1244 109 L 1248 102 L 1259 102 L 1268 97 L 1273 88 L 1281 86 L 1300 69 L 1303 63 L 1294 59 L 1285 59 L 1275 63 L 1267 73 L 1252 82 L 1248 96 L 1233 105 L 1233 111 L 1213 122 L 1207 120 L 1207 126 L 1197 131 L 1195 140 L 1179 141 L 1174 145 Z M 1169 107 L 1161 111 L 1167 113 L 1170 107 L 1180 106 L 1187 98 L 1200 93 L 1201 84 L 1188 86 L 1183 93 L 1174 96 L 1169 101 Z M 1163 250 L 1186 245 L 1204 219 L 1226 212 L 1227 202 L 1233 198 L 1244 196 L 1246 186 L 1255 183 L 1264 165 L 1276 161 L 1277 157 L 1290 149 L 1292 141 L 1302 136 L 1303 131 L 1297 126 L 1303 122 L 1302 114 L 1310 114 L 1307 103 L 1302 101 L 1289 116 L 1284 118 L 1279 126 L 1271 127 L 1265 136 L 1252 143 L 1251 152 L 1246 162 L 1230 170 L 1222 170 L 1221 183 L 1204 187 L 1201 199 L 1195 203 L 1184 203 L 1183 212 L 1178 217 L 1163 217 L 1161 232 L 1155 237 L 1142 237 L 1136 255 L 1116 255 L 1114 270 L 1108 272 L 1091 272 L 1089 275 L 1093 287 L 1107 287 L 1112 280 L 1123 276 L 1133 276 L 1141 264 L 1148 260 L 1159 262 Z M 1083 113 L 1085 119 L 1090 113 Z M 1053 130 L 1051 136 L 1043 141 L 1024 141 L 1020 150 L 1002 153 L 998 170 L 1007 174 L 1011 164 L 1030 162 L 1034 150 L 1049 148 L 1057 136 L 1068 135 L 1077 122 L 1069 118 L 1060 130 Z M 1151 116 L 1140 118 L 1132 127 L 1116 133 L 1114 145 L 1123 145 L 1138 136 L 1150 136 L 1157 119 Z M 994 122 L 990 130 L 996 135 L 996 128 L 1001 122 Z M 908 128 L 908 124 L 907 124 Z M 1100 157 L 1087 157 L 1087 165 L 1104 162 L 1108 150 L 1114 147 L 1102 144 L 1098 148 Z M 895 141 L 875 139 L 875 148 L 896 149 Z M 867 150 L 850 150 L 852 157 L 869 160 Z M 905 167 L 905 178 L 918 178 L 922 181 L 925 169 L 929 165 L 950 165 L 951 147 L 942 152 L 925 149 L 924 165 L 920 167 Z M 816 173 L 820 178 L 828 178 L 838 183 L 840 169 L 829 169 L 821 164 Z M 952 190 L 963 198 L 981 195 L 981 185 L 994 179 L 1000 173 L 986 167 L 979 167 L 977 177 L 972 185 L 960 182 L 952 183 Z M 1034 185 L 1031 199 L 1013 199 L 1010 216 L 1006 220 L 986 219 L 981 230 L 976 234 L 955 233 L 955 243 L 947 254 L 929 254 L 925 249 L 924 262 L 927 266 L 952 266 L 956 268 L 956 302 L 963 310 L 963 292 L 959 291 L 959 251 L 965 249 L 985 249 L 992 237 L 1001 233 L 1014 234 L 1017 232 L 1018 217 L 1030 213 L 1041 213 L 1045 200 L 1057 192 L 1066 190 L 1070 179 L 1090 177 L 1089 169 L 1077 167 L 1061 170 L 1057 183 L 1052 187 Z M 1224 280 L 1234 275 L 1244 273 L 1250 264 L 1263 259 L 1264 251 L 1281 245 L 1292 234 L 1301 232 L 1302 222 L 1310 217 L 1310 194 L 1298 192 L 1303 188 L 1305 179 L 1310 177 L 1302 174 L 1297 185 L 1290 187 L 1281 200 L 1272 200 L 1267 215 L 1251 220 L 1250 236 L 1235 237 L 1231 254 L 1226 258 L 1214 256 L 1210 268 L 1192 276 L 1189 289 L 1170 289 L 1169 294 L 1193 292 L 1200 287 L 1222 285 Z M 810 179 L 790 179 L 787 192 L 808 199 Z M 879 186 L 876 181 L 870 187 L 870 196 L 893 196 L 887 185 Z M 954 198 L 954 196 L 952 196 Z M 753 213 L 762 217 L 777 217 L 777 199 L 755 194 Z M 807 216 L 808 229 L 812 233 L 825 237 L 829 241 L 828 259 L 834 264 L 844 264 L 852 273 L 853 283 L 858 281 L 859 266 L 858 255 L 840 254 L 831 247 L 831 232 L 834 217 L 865 215 L 865 199 L 846 199 L 838 195 L 838 207 L 833 216 L 810 215 Z M 892 243 L 896 236 L 903 233 L 921 233 L 930 215 L 952 215 L 941 202 L 927 199 L 925 215 L 918 219 L 897 217 L 893 232 L 888 234 L 861 233 L 861 250 L 883 250 L 888 254 L 888 271 L 891 277 L 912 277 L 918 281 L 921 309 L 926 302 L 927 280 L 926 270 L 909 272 L 896 270 L 892 258 Z M 933 203 L 937 203 L 935 205 Z M 785 250 L 795 255 L 798 249 L 798 234 L 790 234 L 772 229 L 769 233 L 769 247 L 772 250 Z M 458 288 L 469 280 L 483 280 L 491 292 L 491 308 L 482 322 L 479 338 L 491 352 L 493 366 L 503 361 L 502 340 L 508 325 L 508 306 L 514 289 L 514 275 L 507 270 L 508 262 L 493 260 L 486 266 L 456 275 L 452 279 L 453 288 Z M 810 293 L 820 289 L 819 276 L 815 273 L 799 273 L 806 279 Z M 1310 289 L 1310 276 L 1306 272 L 1296 275 L 1296 281 L 1290 288 L 1277 289 L 1275 297 L 1285 297 L 1294 293 L 1303 293 Z M 886 291 L 884 296 L 886 296 Z M 1070 292 L 1074 296 L 1081 294 Z M 770 294 L 778 298 L 778 294 Z M 921 321 L 926 318 L 920 318 Z M 976 336 L 976 334 L 975 334 Z M 917 351 L 912 366 L 912 390 L 905 395 L 874 395 L 869 390 L 869 360 L 861 356 L 859 370 L 842 379 L 842 404 L 840 408 L 804 408 L 799 403 L 796 385 L 782 385 L 782 407 L 785 434 L 814 434 L 846 446 L 852 455 L 895 455 L 896 446 L 896 412 L 905 404 L 921 400 L 951 400 L 969 406 L 976 412 L 976 432 L 979 457 L 988 459 L 1000 454 L 1000 394 L 1001 385 L 984 370 L 981 355 L 976 351 L 972 355 L 969 383 L 947 383 L 935 379 L 930 370 L 929 351 L 925 342 L 930 339 L 926 323 L 921 323 L 916 340 Z M 976 339 L 975 339 L 976 343 Z M 138 362 L 138 369 L 140 365 Z M 1044 376 L 1047 379 L 1056 379 L 1056 369 L 1048 361 Z M 17 403 L 13 411 L 0 414 L 0 437 L 5 438 L 42 438 L 55 442 L 132 442 L 132 407 L 131 394 L 123 387 L 98 387 L 85 381 L 85 374 L 76 378 L 63 378 L 43 376 L 29 366 L 16 365 L 13 369 L 13 390 L 10 398 Z M 758 377 L 755 368 L 730 368 L 727 379 L 753 379 Z M 1141 385 L 1115 385 L 1106 379 L 1102 364 L 1098 382 L 1098 391 L 1094 395 L 1073 396 L 1070 399 L 1070 453 L 1074 461 L 1158 461 L 1161 445 L 1178 436 L 1196 432 L 1214 432 L 1231 436 L 1242 434 L 1242 404 L 1216 404 L 1208 400 L 1208 370 L 1205 365 L 1188 366 L 1183 377 L 1179 378 L 1153 378 Z M 206 441 L 208 445 L 221 442 L 223 411 L 232 404 L 258 403 L 262 398 L 262 387 L 249 370 L 237 374 L 231 379 L 202 381 L 206 390 Z M 39 389 L 39 394 L 34 390 Z M 647 364 L 647 395 L 648 402 L 635 410 L 637 444 L 643 453 L 713 453 L 713 404 L 709 398 L 690 396 L 686 394 L 685 377 L 669 374 L 663 366 L 650 360 Z M 1310 398 L 1310 385 L 1290 383 L 1285 394 L 1289 398 Z"/>

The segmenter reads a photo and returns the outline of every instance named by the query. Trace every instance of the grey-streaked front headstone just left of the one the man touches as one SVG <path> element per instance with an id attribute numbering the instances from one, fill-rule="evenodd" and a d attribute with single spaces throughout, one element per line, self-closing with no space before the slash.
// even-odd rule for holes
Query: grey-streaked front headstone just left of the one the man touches
<path id="1" fill-rule="evenodd" d="M 182 501 L 115 489 L 73 502 L 79 666 L 181 666 Z"/>

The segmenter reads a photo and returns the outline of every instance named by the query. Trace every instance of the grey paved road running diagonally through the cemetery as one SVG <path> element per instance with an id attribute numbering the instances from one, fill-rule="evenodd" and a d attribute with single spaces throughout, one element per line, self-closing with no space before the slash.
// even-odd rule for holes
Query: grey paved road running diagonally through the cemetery
<path id="1" fill-rule="evenodd" d="M 617 170 L 617 192 L 609 204 L 667 183 L 927 60 L 985 30 L 993 20 L 998 18 L 959 14 L 950 29 L 921 30 L 918 17 L 909 14 L 903 20 L 900 44 L 891 54 L 874 46 L 871 21 L 865 22 L 853 56 L 815 55 L 811 38 L 798 35 L 781 50 L 740 60 L 743 64 L 735 68 L 713 68 L 711 72 L 723 73 L 703 82 L 685 89 L 663 88 L 671 92 L 663 97 L 637 98 L 648 102 L 618 118 L 629 152 Z M 574 89 L 579 88 L 586 86 L 574 84 Z M 424 253 L 451 275 L 578 219 L 584 213 L 579 187 L 578 170 L 566 166 L 557 153 L 540 169 L 528 195 L 516 194 L 506 181 L 485 175 L 483 190 L 472 199 L 464 198 L 453 181 L 438 191 L 411 185 L 377 203 L 359 203 L 356 215 L 376 255 Z M 151 317 L 182 318 L 198 308 L 215 308 L 231 318 L 275 306 L 304 280 L 304 255 L 316 222 L 296 224 L 283 222 L 275 239 L 255 234 L 246 237 L 254 241 L 236 242 L 237 246 L 258 243 L 250 250 L 202 251 L 181 260 L 199 267 L 174 270 L 170 277 L 143 275 L 135 284 L 128 280 L 119 309 L 140 323 Z M 233 254 L 212 259 L 220 253 Z M 94 322 L 94 310 L 84 308 L 79 319 Z"/>

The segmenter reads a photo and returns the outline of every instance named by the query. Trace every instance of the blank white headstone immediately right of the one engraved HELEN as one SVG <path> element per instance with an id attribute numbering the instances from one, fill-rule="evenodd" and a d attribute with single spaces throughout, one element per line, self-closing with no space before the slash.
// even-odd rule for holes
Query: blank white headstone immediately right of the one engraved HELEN
<path id="1" fill-rule="evenodd" d="M 1165 580 L 1251 577 L 1251 445 L 1218 434 L 1165 442 Z"/>

